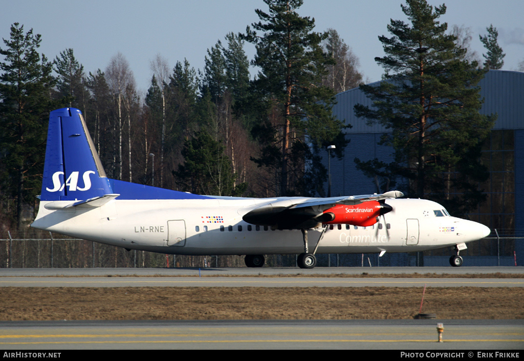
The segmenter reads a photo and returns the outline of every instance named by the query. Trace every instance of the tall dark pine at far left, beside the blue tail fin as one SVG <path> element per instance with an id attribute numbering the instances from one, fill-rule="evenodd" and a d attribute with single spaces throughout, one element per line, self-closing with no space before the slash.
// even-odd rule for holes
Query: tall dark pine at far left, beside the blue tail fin
<path id="1" fill-rule="evenodd" d="M 0 167 L 4 196 L 16 199 L 17 226 L 22 227 L 24 205 L 34 205 L 40 192 L 49 111 L 55 79 L 52 64 L 38 53 L 40 34 L 14 23 L 0 55 Z"/>

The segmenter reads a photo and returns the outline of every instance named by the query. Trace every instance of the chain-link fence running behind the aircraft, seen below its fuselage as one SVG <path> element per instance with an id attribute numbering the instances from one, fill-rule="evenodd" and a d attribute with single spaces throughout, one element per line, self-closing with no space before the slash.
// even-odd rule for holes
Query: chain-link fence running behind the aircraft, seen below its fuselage
<path id="1" fill-rule="evenodd" d="M 490 237 L 468 243 L 461 256 L 474 265 L 513 265 L 518 237 Z M 434 266 L 446 265 L 452 247 L 413 253 L 317 254 L 318 267 Z M 296 267 L 296 254 L 271 254 L 266 267 Z M 435 259 L 442 259 L 435 263 Z M 425 262 L 424 262 L 425 260 Z M 501 263 L 502 260 L 502 263 Z M 472 266 L 472 261 L 465 266 Z M 180 256 L 146 251 L 127 251 L 47 231 L 0 231 L 0 268 L 204 268 L 245 267 L 243 256 Z"/>

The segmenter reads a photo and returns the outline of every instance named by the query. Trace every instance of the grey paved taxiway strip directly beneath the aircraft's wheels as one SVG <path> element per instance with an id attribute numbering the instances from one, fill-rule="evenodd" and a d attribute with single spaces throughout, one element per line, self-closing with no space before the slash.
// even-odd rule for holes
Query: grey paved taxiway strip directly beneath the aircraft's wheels
<path id="1" fill-rule="evenodd" d="M 381 278 L 351 275 L 384 274 Z M 388 274 L 445 274 L 446 278 L 388 278 Z M 451 274 L 453 273 L 453 274 Z M 522 278 L 456 278 L 464 273 L 521 273 Z M 300 275 L 300 277 L 294 277 Z M 310 275 L 311 277 L 307 277 Z M 313 277 L 314 275 L 314 277 Z M 322 277 L 331 275 L 331 277 Z M 343 275 L 344 277 L 336 277 Z M 78 277 L 82 276 L 82 277 Z M 233 277 L 232 277 L 233 276 Z M 268 276 L 268 277 L 260 277 Z M 278 276 L 278 277 L 276 277 Z M 350 276 L 350 277 L 348 277 Z M 0 287 L 523 287 L 522 267 L 1 269 Z"/>

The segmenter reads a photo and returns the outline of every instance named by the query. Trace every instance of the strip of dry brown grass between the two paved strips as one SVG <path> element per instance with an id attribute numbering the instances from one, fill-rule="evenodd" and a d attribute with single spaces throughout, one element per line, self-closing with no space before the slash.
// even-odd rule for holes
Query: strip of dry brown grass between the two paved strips
<path id="1" fill-rule="evenodd" d="M 16 288 L 0 321 L 406 319 L 421 288 Z M 524 318 L 524 288 L 427 288 L 423 313 L 441 319 Z"/>

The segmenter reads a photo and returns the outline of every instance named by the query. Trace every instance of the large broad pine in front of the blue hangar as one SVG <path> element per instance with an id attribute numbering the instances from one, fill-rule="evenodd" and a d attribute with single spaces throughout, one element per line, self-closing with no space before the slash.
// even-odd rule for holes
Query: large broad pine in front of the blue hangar
<path id="1" fill-rule="evenodd" d="M 407 178 L 410 197 L 465 211 L 482 200 L 476 184 L 487 177 L 478 160 L 479 144 L 494 123 L 479 113 L 478 81 L 485 72 L 445 33 L 447 24 L 438 21 L 444 5 L 433 9 L 425 0 L 407 0 L 402 10 L 411 24 L 391 20 L 392 36 L 379 37 L 386 56 L 375 60 L 385 80 L 361 86 L 373 108 L 357 104 L 355 113 L 391 130 L 381 144 L 394 148 L 396 164 L 380 167 Z"/>

